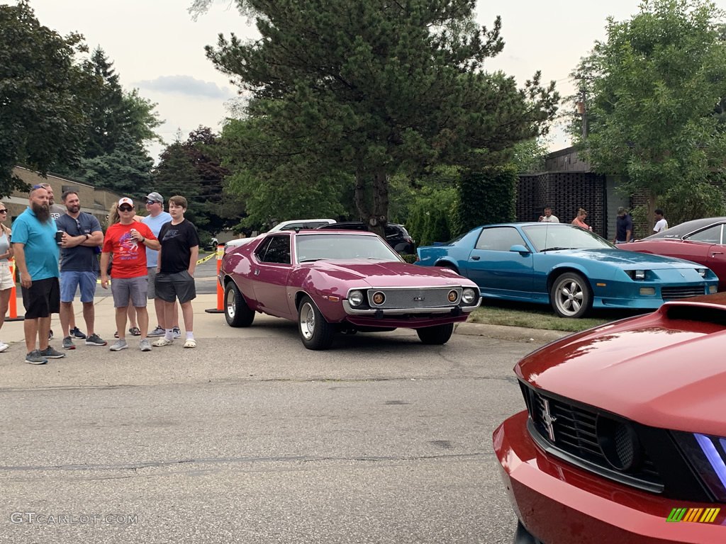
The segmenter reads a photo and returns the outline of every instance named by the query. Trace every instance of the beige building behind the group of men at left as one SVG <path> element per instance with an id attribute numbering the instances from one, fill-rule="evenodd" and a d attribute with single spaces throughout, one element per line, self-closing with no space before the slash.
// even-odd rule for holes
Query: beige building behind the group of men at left
<path id="1" fill-rule="evenodd" d="M 118 199 L 123 196 L 113 191 L 108 191 L 107 189 L 96 189 L 94 186 L 83 184 L 81 181 L 76 181 L 71 178 L 54 176 L 52 174 L 48 174 L 48 177 L 44 178 L 37 172 L 33 172 L 33 170 L 28 170 L 27 168 L 21 168 L 20 166 L 13 168 L 12 173 L 30 186 L 50 184 L 53 188 L 53 197 L 57 205 L 63 205 L 60 196 L 64 191 L 76 191 L 78 198 L 81 200 L 81 211 L 95 215 L 104 228 L 106 226 L 108 210 L 110 210 L 114 202 L 118 202 Z M 15 219 L 28 207 L 28 193 L 13 191 L 9 197 L 3 199 L 3 202 L 5 202 L 5 205 L 10 210 L 8 218 Z M 10 225 L 8 224 L 7 226 Z M 12 226 L 10 227 L 12 228 Z"/>

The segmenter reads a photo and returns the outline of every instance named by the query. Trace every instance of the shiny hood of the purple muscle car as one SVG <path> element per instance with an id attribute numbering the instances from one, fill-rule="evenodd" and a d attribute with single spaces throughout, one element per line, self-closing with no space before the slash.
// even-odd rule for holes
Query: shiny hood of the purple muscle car
<path id="1" fill-rule="evenodd" d="M 425 268 L 399 261 L 318 260 L 311 266 L 338 279 L 361 280 L 370 287 L 406 287 L 409 284 L 411 287 L 466 285 L 476 288 L 473 281 L 447 268 Z M 407 278 L 410 281 L 406 281 Z M 431 281 L 431 286 L 426 284 L 427 280 Z"/>

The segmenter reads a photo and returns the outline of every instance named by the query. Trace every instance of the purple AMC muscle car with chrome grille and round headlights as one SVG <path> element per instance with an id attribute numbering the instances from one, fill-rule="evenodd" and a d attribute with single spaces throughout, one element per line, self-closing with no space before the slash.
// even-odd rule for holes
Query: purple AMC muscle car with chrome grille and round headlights
<path id="1" fill-rule="evenodd" d="M 259 236 L 224 255 L 219 282 L 229 326 L 250 326 L 255 312 L 297 321 L 309 350 L 330 347 L 336 331 L 398 327 L 444 344 L 480 302 L 473 281 L 405 263 L 380 236 L 358 231 Z"/>

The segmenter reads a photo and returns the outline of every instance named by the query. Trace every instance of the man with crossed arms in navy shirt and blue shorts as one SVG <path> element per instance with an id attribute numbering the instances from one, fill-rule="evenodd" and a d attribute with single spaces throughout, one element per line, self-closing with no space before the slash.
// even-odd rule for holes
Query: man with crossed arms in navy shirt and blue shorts
<path id="1" fill-rule="evenodd" d="M 66 213 L 55 224 L 63 231 L 60 244 L 60 326 L 63 329 L 63 348 L 75 350 L 69 323 L 73 316 L 73 297 L 81 287 L 83 320 L 86 321 L 87 346 L 105 346 L 106 342 L 94 332 L 95 309 L 93 297 L 99 266 L 96 248 L 103 244 L 101 223 L 90 213 L 81 212 L 81 200 L 76 191 L 65 191 L 61 197 Z"/>

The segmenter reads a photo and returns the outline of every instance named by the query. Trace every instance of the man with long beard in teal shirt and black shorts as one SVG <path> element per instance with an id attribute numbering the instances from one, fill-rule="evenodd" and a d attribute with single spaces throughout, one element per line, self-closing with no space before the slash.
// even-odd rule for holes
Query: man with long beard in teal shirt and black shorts
<path id="1" fill-rule="evenodd" d="M 43 365 L 48 359 L 65 357 L 64 353 L 48 345 L 50 315 L 60 311 L 58 244 L 55 221 L 50 216 L 48 191 L 35 185 L 28 200 L 30 206 L 12 223 L 12 247 L 25 306 L 23 331 L 28 348 L 25 362 Z"/>

